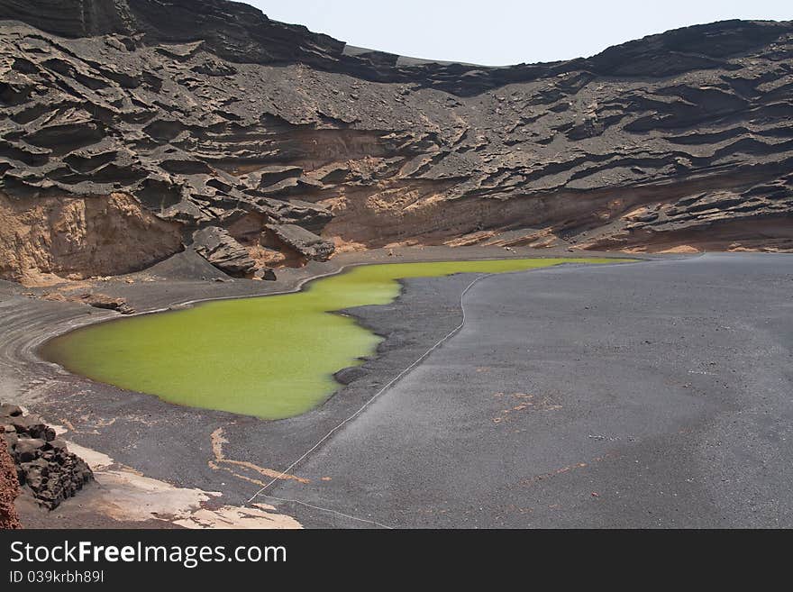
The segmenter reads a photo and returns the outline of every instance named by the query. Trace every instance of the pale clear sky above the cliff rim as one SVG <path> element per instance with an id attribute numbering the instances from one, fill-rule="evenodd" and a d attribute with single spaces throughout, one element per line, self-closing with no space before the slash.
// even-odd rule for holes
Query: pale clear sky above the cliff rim
<path id="1" fill-rule="evenodd" d="M 486 66 L 588 57 L 690 24 L 793 20 L 791 0 L 248 0 L 351 45 Z"/>

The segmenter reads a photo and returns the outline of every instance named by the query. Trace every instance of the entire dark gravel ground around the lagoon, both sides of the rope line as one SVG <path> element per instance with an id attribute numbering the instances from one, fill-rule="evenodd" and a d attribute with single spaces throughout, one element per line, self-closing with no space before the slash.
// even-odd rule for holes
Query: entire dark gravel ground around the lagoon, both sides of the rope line
<path id="1" fill-rule="evenodd" d="M 364 259 L 452 256 L 476 254 Z M 353 260 L 275 284 L 194 273 L 103 291 L 112 284 L 143 310 L 294 287 Z M 85 322 L 87 307 L 7 285 L 0 398 L 147 476 L 241 504 L 451 331 L 475 277 L 408 280 L 392 305 L 349 311 L 387 335 L 380 355 L 327 404 L 278 422 L 168 405 L 37 362 L 32 344 Z M 484 278 L 465 298 L 463 330 L 296 468 L 309 482 L 267 492 L 343 515 L 259 501 L 309 527 L 789 526 L 791 279 L 793 257 L 737 253 Z"/>

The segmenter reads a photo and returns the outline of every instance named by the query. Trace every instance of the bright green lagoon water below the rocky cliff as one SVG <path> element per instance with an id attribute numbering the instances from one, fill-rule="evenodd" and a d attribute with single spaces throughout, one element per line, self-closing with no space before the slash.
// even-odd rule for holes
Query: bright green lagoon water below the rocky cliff
<path id="1" fill-rule="evenodd" d="M 360 364 L 382 341 L 342 308 L 385 305 L 399 278 L 505 272 L 608 259 L 393 263 L 317 279 L 301 292 L 216 300 L 185 310 L 98 323 L 41 349 L 69 371 L 179 405 L 282 419 L 321 405 L 333 373 Z"/>

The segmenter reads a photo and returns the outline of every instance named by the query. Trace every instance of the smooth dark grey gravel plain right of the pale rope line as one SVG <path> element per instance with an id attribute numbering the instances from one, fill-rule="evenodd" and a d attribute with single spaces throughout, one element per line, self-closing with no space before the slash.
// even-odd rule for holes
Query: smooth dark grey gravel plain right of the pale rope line
<path id="1" fill-rule="evenodd" d="M 791 282 L 761 254 L 486 278 L 271 493 L 403 527 L 790 527 Z"/>

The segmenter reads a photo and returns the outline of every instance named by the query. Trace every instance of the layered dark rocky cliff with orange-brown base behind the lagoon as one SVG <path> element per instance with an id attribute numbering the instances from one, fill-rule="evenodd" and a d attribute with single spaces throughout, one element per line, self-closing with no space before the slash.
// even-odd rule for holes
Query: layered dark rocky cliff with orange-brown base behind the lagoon
<path id="1" fill-rule="evenodd" d="M 221 0 L 0 0 L 0 19 L 5 278 L 145 267 L 208 226 L 245 273 L 327 256 L 312 233 L 793 250 L 793 23 L 485 68 Z"/>

